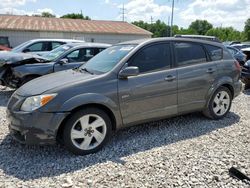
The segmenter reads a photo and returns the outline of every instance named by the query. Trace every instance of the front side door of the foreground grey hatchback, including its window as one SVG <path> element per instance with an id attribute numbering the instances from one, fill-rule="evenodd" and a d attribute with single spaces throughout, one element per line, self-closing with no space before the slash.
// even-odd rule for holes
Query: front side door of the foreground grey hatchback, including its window
<path id="1" fill-rule="evenodd" d="M 138 67 L 140 74 L 118 81 L 124 124 L 177 113 L 177 72 L 172 69 L 169 43 L 144 47 L 128 61 L 128 66 Z"/>

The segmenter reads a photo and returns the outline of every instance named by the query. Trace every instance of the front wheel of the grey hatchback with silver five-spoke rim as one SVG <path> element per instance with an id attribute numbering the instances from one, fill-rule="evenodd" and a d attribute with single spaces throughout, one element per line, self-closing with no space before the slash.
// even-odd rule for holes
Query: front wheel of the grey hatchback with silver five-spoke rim
<path id="1" fill-rule="evenodd" d="M 99 151 L 109 140 L 111 132 L 111 120 L 103 110 L 86 108 L 66 121 L 63 142 L 70 152 L 87 155 Z"/>

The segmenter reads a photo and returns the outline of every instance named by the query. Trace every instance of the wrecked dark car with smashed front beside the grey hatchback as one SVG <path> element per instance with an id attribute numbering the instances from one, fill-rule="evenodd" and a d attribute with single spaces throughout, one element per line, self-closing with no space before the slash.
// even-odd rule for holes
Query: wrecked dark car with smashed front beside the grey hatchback
<path id="1" fill-rule="evenodd" d="M 18 54 L 16 61 L 2 65 L 0 80 L 4 86 L 18 88 L 45 74 L 77 68 L 108 47 L 109 44 L 101 43 L 71 43 L 62 45 L 42 57 L 25 56 L 23 60 L 20 56 L 23 57 L 24 54 Z"/>

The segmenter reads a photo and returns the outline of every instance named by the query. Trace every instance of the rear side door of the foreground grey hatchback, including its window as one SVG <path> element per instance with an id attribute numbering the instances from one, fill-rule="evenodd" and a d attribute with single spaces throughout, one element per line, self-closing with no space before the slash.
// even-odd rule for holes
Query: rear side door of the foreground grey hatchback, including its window
<path id="1" fill-rule="evenodd" d="M 203 109 L 208 90 L 218 74 L 216 63 L 211 60 L 205 46 L 199 43 L 174 42 L 174 50 L 178 75 L 178 112 Z"/>

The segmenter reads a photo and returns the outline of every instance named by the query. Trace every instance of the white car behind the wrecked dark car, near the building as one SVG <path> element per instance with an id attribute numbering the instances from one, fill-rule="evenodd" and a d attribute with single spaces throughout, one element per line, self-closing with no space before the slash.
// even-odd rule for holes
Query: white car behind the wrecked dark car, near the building
<path id="1" fill-rule="evenodd" d="M 14 53 L 33 53 L 44 55 L 57 47 L 67 43 L 81 43 L 82 40 L 71 39 L 33 39 L 24 42 L 12 49 Z"/>

